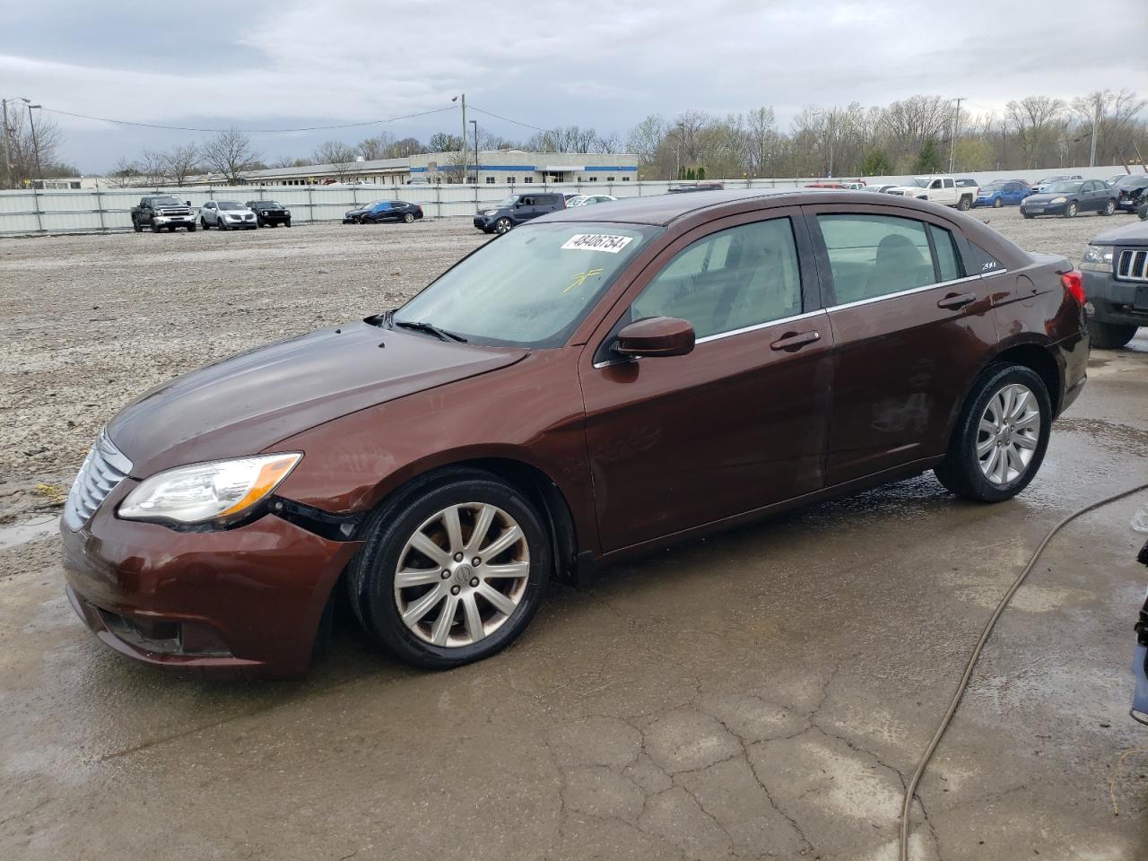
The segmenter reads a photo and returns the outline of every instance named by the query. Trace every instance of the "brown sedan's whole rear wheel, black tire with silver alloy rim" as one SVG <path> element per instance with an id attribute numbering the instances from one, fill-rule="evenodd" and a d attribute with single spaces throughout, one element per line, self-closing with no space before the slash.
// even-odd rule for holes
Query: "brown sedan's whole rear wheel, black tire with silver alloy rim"
<path id="1" fill-rule="evenodd" d="M 983 422 L 1000 427 L 995 442 L 996 432 L 984 429 Z M 1024 365 L 991 364 L 972 383 L 945 459 L 933 472 L 965 499 L 1011 499 L 1040 470 L 1052 424 L 1052 403 L 1040 374 Z"/>

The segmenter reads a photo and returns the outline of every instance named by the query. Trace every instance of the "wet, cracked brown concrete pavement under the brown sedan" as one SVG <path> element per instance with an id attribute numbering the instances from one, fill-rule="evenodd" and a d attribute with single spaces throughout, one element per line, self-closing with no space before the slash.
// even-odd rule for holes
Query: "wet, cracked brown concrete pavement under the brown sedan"
<path id="1" fill-rule="evenodd" d="M 680 546 L 553 590 L 450 673 L 344 620 L 301 683 L 161 674 L 82 627 L 54 537 L 0 550 L 0 859 L 893 859 L 999 596 L 1061 517 L 1148 481 L 1134 347 L 1094 354 L 1018 499 L 925 475 Z M 1117 769 L 1148 747 L 1127 716 L 1145 503 L 1070 526 L 1002 618 L 914 859 L 1148 858 L 1148 754 Z"/>

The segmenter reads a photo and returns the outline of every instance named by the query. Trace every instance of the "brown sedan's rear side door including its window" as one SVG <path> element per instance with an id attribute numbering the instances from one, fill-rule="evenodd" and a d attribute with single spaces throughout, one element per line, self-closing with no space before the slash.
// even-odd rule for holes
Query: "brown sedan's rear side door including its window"
<path id="1" fill-rule="evenodd" d="M 827 483 L 943 453 L 996 343 L 990 284 L 964 271 L 959 231 L 940 216 L 805 210 L 835 341 Z"/>

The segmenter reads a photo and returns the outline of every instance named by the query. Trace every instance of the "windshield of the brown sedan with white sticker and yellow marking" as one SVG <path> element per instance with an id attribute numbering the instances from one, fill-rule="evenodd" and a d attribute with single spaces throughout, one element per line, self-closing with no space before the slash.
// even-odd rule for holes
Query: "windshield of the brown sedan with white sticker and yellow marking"
<path id="1" fill-rule="evenodd" d="M 556 223 L 515 227 L 464 257 L 395 312 L 468 341 L 560 347 L 661 227 Z"/>

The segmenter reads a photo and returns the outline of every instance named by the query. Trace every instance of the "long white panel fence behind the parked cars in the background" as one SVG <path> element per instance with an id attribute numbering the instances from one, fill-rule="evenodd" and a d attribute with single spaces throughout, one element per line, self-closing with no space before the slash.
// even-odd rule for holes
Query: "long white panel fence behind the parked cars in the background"
<path id="1" fill-rule="evenodd" d="M 1086 179 L 1107 179 L 1123 173 L 1122 166 L 1050 168 L 1033 171 L 993 171 L 975 174 L 984 184 L 992 179 L 1040 179 L 1049 174 L 1079 173 Z M 871 177 L 867 181 L 895 183 L 903 177 Z M 819 181 L 810 177 L 723 180 L 727 188 L 800 187 Z M 823 181 L 823 180 L 822 180 Z M 185 186 L 181 188 L 108 188 L 98 191 L 0 191 L 0 236 L 96 233 L 132 228 L 131 209 L 142 195 L 173 194 L 199 207 L 209 200 L 276 200 L 292 210 L 295 223 L 338 222 L 343 212 L 373 200 L 419 203 L 427 217 L 471 217 L 515 192 L 559 191 L 638 197 L 665 194 L 669 183 L 563 183 L 517 185 L 364 185 L 364 186 Z"/>

